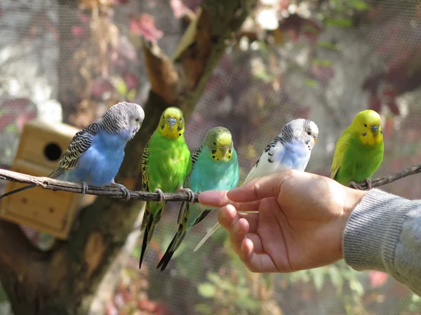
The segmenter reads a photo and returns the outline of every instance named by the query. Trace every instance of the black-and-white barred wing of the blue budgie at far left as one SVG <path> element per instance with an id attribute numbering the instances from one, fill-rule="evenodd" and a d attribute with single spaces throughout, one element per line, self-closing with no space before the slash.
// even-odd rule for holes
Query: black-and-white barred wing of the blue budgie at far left
<path id="1" fill-rule="evenodd" d="M 100 123 L 95 122 L 76 133 L 69 143 L 69 147 L 67 147 L 65 154 L 63 154 L 60 161 L 58 161 L 58 166 L 50 175 L 48 175 L 48 177 L 54 178 L 65 173 L 67 170 L 76 168 L 81 155 L 91 147 L 93 136 L 98 133 L 98 130 L 100 130 Z"/>

